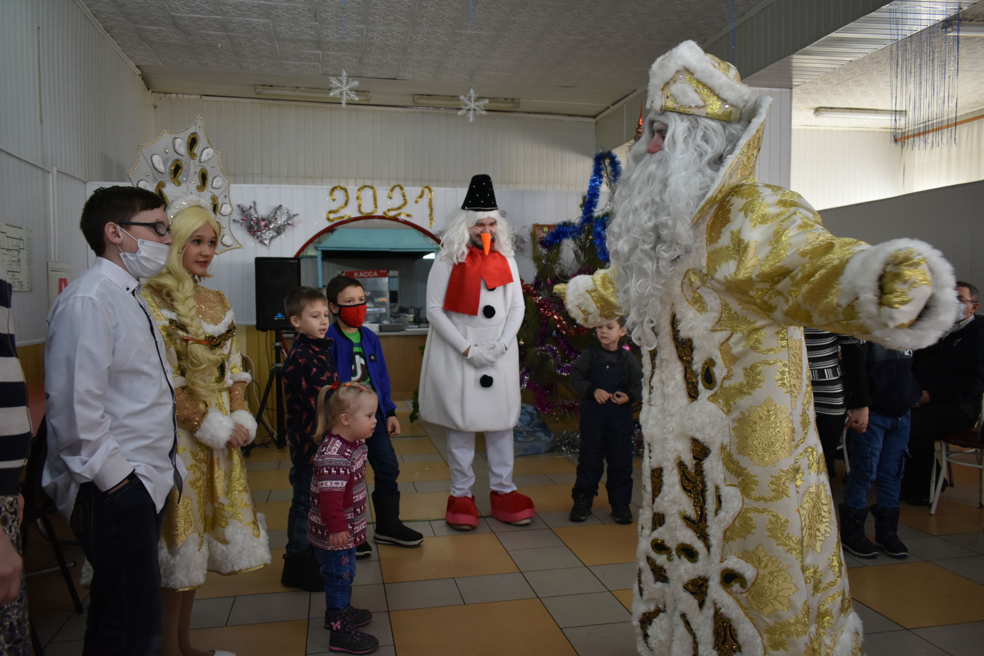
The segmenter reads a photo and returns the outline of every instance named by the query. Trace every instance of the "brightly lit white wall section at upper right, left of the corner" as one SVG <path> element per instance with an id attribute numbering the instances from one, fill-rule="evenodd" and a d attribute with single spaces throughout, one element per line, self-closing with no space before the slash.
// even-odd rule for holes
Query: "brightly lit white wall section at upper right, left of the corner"
<path id="1" fill-rule="evenodd" d="M 792 131 L 790 188 L 816 209 L 902 193 L 902 149 L 888 132 Z"/>

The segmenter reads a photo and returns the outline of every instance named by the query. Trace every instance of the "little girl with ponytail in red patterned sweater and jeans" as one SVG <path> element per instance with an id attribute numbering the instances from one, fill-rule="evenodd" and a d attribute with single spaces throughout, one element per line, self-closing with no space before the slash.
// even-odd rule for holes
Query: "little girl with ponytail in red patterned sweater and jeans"
<path id="1" fill-rule="evenodd" d="M 308 541 L 325 578 L 325 628 L 332 631 L 330 651 L 368 654 L 376 637 L 358 626 L 372 613 L 352 608 L 355 547 L 366 540 L 366 446 L 376 428 L 376 392 L 358 383 L 322 388 L 318 395 Z"/>

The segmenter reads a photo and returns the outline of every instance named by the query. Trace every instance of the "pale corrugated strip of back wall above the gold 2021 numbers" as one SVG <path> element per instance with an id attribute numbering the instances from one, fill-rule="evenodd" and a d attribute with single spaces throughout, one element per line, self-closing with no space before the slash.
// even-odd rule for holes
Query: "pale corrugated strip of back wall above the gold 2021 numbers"
<path id="1" fill-rule="evenodd" d="M 154 127 L 183 130 L 197 116 L 237 184 L 325 185 L 338 179 L 466 185 L 488 173 L 497 189 L 584 190 L 590 120 L 490 113 L 154 94 Z"/>

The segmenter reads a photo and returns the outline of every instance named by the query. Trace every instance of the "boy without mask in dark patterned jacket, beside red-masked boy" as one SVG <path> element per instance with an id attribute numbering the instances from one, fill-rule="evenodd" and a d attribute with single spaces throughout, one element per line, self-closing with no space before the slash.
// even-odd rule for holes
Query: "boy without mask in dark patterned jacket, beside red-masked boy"
<path id="1" fill-rule="evenodd" d="M 318 392 L 338 381 L 332 340 L 325 338 L 331 315 L 325 292 L 314 287 L 292 290 L 283 299 L 283 310 L 297 333 L 283 363 L 282 374 L 293 495 L 287 511 L 287 549 L 283 555 L 280 584 L 318 592 L 325 588 L 325 583 L 321 566 L 308 543 L 307 521 L 311 510 L 314 455 L 318 450 L 314 440 Z"/>

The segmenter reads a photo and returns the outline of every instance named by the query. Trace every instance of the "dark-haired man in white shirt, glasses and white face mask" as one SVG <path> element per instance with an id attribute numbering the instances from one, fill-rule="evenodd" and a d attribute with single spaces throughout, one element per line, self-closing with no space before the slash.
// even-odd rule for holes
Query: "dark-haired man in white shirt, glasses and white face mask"
<path id="1" fill-rule="evenodd" d="M 171 244 L 164 203 L 137 187 L 97 189 L 81 227 L 97 256 L 48 314 L 48 455 L 43 484 L 92 564 L 86 653 L 155 654 L 157 541 L 175 460 L 174 392 L 140 278 Z"/>

